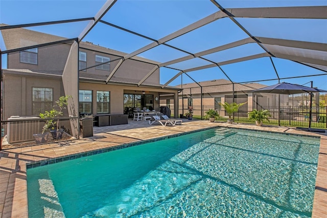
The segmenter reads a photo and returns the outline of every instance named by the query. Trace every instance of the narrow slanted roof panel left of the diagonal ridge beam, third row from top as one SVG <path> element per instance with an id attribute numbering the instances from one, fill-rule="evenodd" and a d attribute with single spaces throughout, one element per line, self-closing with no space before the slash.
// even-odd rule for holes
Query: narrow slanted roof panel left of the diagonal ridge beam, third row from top
<path id="1" fill-rule="evenodd" d="M 204 55 L 202 57 L 218 63 L 261 53 L 265 53 L 265 50 L 261 48 L 257 43 L 248 43 L 243 46 L 226 49 L 220 52 Z"/>

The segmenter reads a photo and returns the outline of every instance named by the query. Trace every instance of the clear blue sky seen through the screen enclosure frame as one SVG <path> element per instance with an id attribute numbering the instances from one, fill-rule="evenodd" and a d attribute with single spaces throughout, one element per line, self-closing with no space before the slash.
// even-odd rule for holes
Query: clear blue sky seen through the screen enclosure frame
<path id="1" fill-rule="evenodd" d="M 105 1 L 15 1 L 0 0 L 0 23 L 8 25 L 37 23 L 42 21 L 75 19 L 93 17 Z M 277 6 L 321 6 L 327 1 L 218 1 L 223 7 L 277 7 Z M 158 40 L 180 28 L 217 12 L 219 9 L 210 1 L 126 1 L 119 0 L 102 18 L 114 25 L 146 35 Z M 28 11 L 28 16 L 27 12 Z M 274 18 L 237 18 L 253 36 L 283 38 L 300 41 L 327 43 L 327 21 L 320 19 L 274 19 Z M 67 38 L 76 37 L 86 26 L 87 21 L 70 24 L 31 27 L 28 29 L 59 35 Z M 197 53 L 236 40 L 247 38 L 229 18 L 219 19 L 188 34 L 182 35 L 167 42 L 168 45 L 178 47 L 190 53 Z M 85 38 L 86 41 L 114 50 L 131 53 L 142 48 L 152 41 L 131 33 L 98 24 Z M 3 42 L 0 42 L 2 50 Z M 265 51 L 255 43 L 228 49 L 219 53 L 209 54 L 205 58 L 220 62 L 229 59 L 264 53 Z M 292 51 L 289 51 L 292 52 Z M 158 62 L 166 62 L 188 54 L 160 45 L 154 49 L 139 54 Z M 272 58 L 280 77 L 307 76 L 323 74 L 325 72 L 309 68 L 294 61 Z M 326 60 L 327 61 L 327 60 Z M 210 62 L 199 58 L 173 64 L 181 70 L 193 68 Z M 3 55 L 3 68 L 6 68 L 6 57 Z M 271 60 L 268 57 L 243 61 L 221 66 L 222 70 L 235 82 L 246 82 L 276 78 Z M 160 83 L 167 82 L 179 71 L 160 69 Z M 219 68 L 210 68 L 188 73 L 196 81 L 226 79 Z M 170 85 L 180 83 L 180 78 Z M 314 86 L 327 90 L 327 76 L 303 77 L 298 79 L 282 80 L 304 84 L 313 81 Z M 193 82 L 183 76 L 183 83 Z M 270 85 L 274 81 L 262 81 Z"/>

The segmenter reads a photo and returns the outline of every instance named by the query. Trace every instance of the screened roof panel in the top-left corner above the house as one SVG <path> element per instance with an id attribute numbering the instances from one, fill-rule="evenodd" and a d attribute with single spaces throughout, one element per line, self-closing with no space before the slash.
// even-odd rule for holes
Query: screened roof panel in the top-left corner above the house
<path id="1" fill-rule="evenodd" d="M 0 24 L 20 25 L 94 17 L 104 0 L 0 1 Z M 66 29 L 69 30 L 69 29 Z M 59 33 L 59 31 L 57 32 Z"/>

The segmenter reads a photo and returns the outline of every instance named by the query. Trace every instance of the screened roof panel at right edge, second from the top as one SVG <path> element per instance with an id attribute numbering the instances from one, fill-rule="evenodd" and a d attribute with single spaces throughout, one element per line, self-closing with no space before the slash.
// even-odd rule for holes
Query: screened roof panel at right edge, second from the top
<path id="1" fill-rule="evenodd" d="M 327 20 L 236 18 L 253 36 L 327 43 Z"/>

